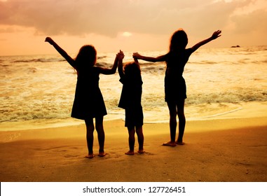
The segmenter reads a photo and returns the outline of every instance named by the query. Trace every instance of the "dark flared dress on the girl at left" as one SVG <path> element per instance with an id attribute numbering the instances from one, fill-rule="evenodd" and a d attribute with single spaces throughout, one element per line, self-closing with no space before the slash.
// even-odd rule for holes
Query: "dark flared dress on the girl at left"
<path id="1" fill-rule="evenodd" d="M 95 66 L 78 70 L 71 117 L 85 120 L 107 115 L 99 80 L 100 72 Z"/>

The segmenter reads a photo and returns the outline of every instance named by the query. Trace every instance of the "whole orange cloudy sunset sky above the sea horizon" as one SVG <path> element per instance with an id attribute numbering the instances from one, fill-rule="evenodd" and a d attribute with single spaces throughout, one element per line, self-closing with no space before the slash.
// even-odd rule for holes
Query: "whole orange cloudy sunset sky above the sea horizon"
<path id="1" fill-rule="evenodd" d="M 53 54 L 93 44 L 97 52 L 167 50 L 183 28 L 192 46 L 267 45 L 266 0 L 0 0 L 0 56 Z"/>

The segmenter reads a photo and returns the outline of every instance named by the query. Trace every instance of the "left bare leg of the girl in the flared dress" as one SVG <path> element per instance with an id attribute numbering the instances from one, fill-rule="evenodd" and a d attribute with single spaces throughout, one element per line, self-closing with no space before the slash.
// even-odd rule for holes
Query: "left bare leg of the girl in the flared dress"
<path id="1" fill-rule="evenodd" d="M 87 148 L 88 148 L 88 155 L 86 155 L 86 158 L 93 158 L 93 144 L 94 144 L 94 123 L 93 119 L 86 119 L 85 120 L 86 125 L 86 141 L 87 141 Z"/>

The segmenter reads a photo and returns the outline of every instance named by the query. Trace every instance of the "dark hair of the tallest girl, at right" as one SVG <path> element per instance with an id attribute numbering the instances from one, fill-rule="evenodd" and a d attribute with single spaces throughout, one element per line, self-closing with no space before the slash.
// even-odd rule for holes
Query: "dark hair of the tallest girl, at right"
<path id="1" fill-rule="evenodd" d="M 184 50 L 188 43 L 187 34 L 184 29 L 178 29 L 170 38 L 170 52 L 176 50 Z"/>

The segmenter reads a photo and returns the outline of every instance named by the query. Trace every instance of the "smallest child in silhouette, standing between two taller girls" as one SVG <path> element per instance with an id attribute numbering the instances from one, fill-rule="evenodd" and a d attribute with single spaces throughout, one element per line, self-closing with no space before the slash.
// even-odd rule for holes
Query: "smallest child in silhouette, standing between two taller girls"
<path id="1" fill-rule="evenodd" d="M 124 68 L 124 71 L 123 71 Z M 118 64 L 118 73 L 123 84 L 121 99 L 118 107 L 125 109 L 125 127 L 128 128 L 129 148 L 126 155 L 135 155 L 135 132 L 139 143 L 138 153 L 144 153 L 143 134 L 143 109 L 142 99 L 142 76 L 137 59 L 135 62 L 128 62 L 124 66 L 122 62 Z"/>

